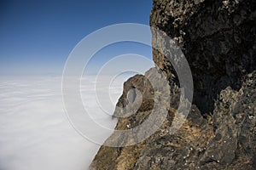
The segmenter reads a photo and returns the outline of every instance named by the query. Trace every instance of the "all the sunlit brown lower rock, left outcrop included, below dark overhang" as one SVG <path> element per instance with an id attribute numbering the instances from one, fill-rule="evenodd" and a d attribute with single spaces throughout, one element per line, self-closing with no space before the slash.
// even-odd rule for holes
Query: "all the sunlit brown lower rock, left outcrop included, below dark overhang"
<path id="1" fill-rule="evenodd" d="M 125 84 L 133 84 L 132 80 L 137 82 L 133 77 Z M 204 118 L 192 105 L 186 122 L 170 135 L 168 130 L 176 111 L 170 108 L 160 130 L 147 140 L 122 148 L 102 146 L 91 169 L 253 170 L 256 166 L 255 102 L 256 71 L 247 75 L 239 91 L 228 87 L 219 94 L 212 116 Z M 119 119 L 116 129 L 127 128 L 125 125 L 129 123 L 138 126 L 147 118 L 142 113 L 143 109 L 136 116 Z"/>

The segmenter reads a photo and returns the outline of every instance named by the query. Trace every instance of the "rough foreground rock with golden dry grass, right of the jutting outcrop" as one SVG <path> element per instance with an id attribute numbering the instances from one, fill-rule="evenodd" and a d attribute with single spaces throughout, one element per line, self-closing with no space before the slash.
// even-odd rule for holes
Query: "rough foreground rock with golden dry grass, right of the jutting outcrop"
<path id="1" fill-rule="evenodd" d="M 188 122 L 147 144 L 134 169 L 254 169 L 255 102 L 256 71 L 239 91 L 229 87 L 220 93 L 212 121 L 193 105 Z"/>

